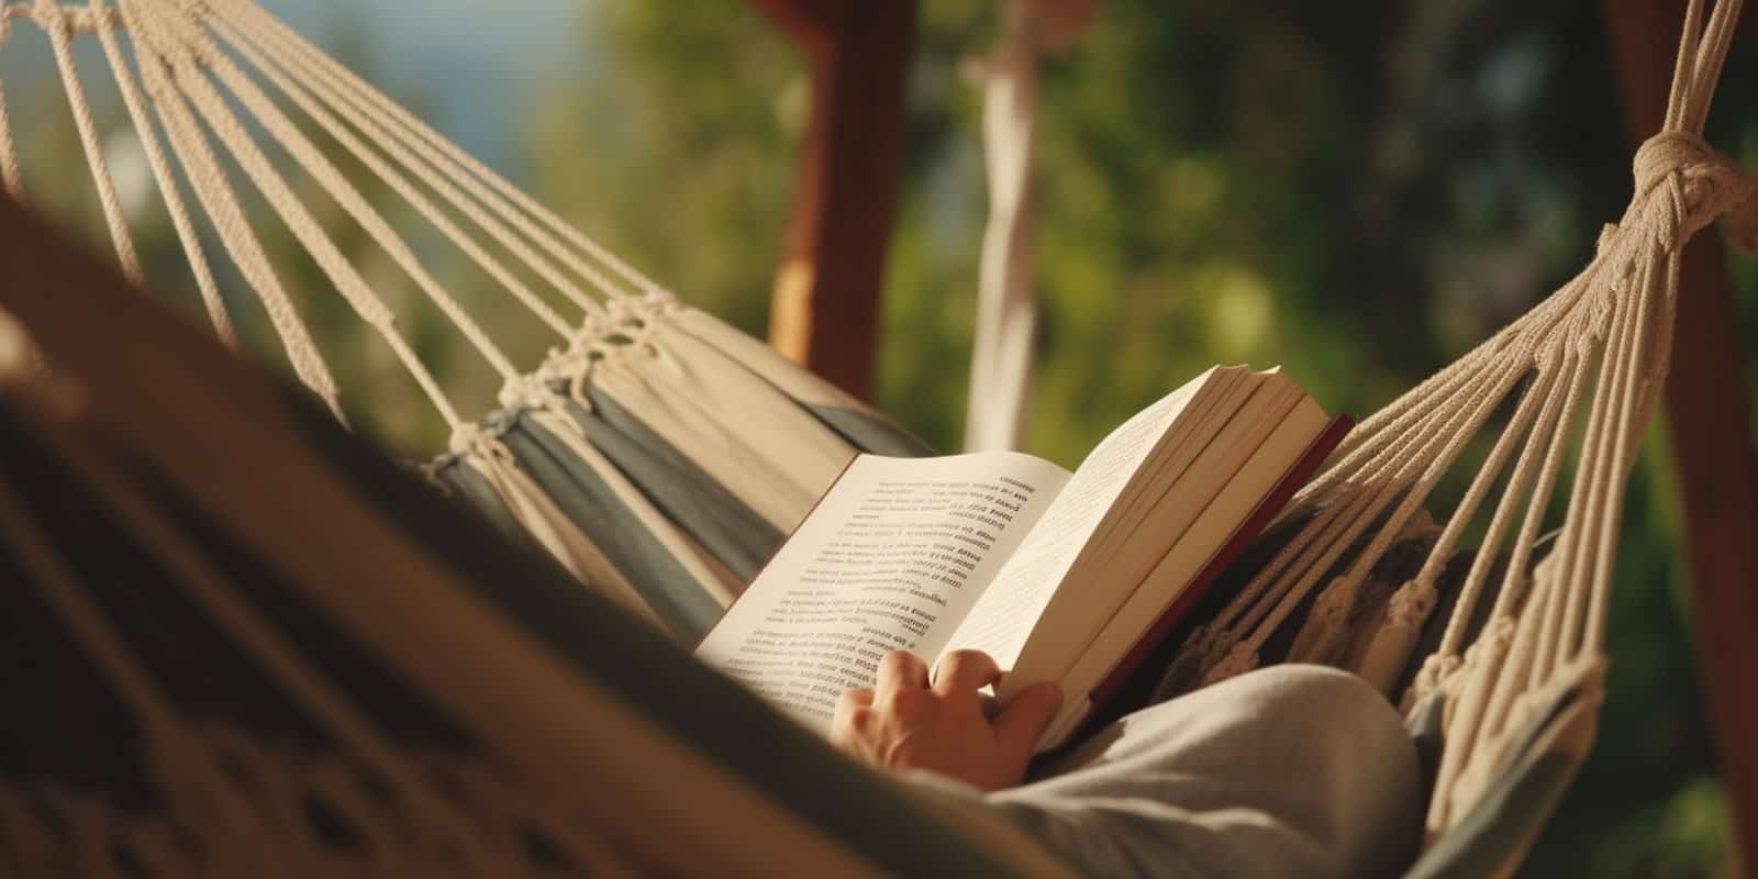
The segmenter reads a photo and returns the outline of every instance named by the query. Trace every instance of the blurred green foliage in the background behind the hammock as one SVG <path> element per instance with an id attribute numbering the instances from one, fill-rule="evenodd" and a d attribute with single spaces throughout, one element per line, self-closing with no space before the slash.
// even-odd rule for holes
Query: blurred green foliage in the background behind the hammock
<path id="1" fill-rule="evenodd" d="M 981 95 L 963 70 L 993 37 L 995 5 L 923 0 L 886 269 L 877 404 L 941 448 L 955 448 L 963 427 L 984 211 Z M 371 79 L 374 49 L 339 16 L 320 42 Z M 1595 4 L 1554 0 L 1378 0 L 1350 14 L 1102 4 L 1093 32 L 1046 62 L 1035 265 L 1044 315 L 1028 450 L 1074 464 L 1122 418 L 1218 360 L 1280 362 L 1327 408 L 1364 415 L 1536 302 L 1580 267 L 1630 195 L 1631 144 L 1600 16 Z M 691 302 L 761 334 L 805 127 L 803 58 L 730 0 L 594 0 L 577 26 L 577 60 L 552 72 L 519 132 L 536 195 Z M 1711 141 L 1758 163 L 1758 42 L 1744 39 Z M 21 51 L 0 62 L 18 63 Z M 25 58 L 46 63 L 35 51 Z M 100 63 L 83 51 L 83 67 Z M 397 98 L 418 111 L 431 95 Z M 26 193 L 72 204 L 63 222 L 100 239 L 65 98 L 46 88 L 9 100 L 16 120 L 51 120 L 21 137 Z M 123 118 L 113 100 L 98 113 L 105 130 Z M 311 120 L 295 121 L 394 225 L 424 227 Z M 107 153 L 114 167 L 125 149 Z M 253 214 L 272 216 L 230 172 Z M 432 308 L 415 306 L 420 294 L 339 206 L 302 172 L 290 178 L 397 306 L 399 327 L 464 415 L 490 406 L 498 378 Z M 192 290 L 162 207 L 130 222 L 149 280 Z M 438 448 L 443 425 L 318 267 L 283 227 L 264 223 L 262 236 L 357 422 L 403 448 Z M 411 244 L 517 362 L 556 345 L 520 309 L 501 308 L 480 269 L 431 232 Z M 223 251 L 211 232 L 204 246 Z M 1758 264 L 1732 267 L 1751 392 Z M 243 288 L 225 260 L 220 271 L 223 287 Z M 197 308 L 193 294 L 185 304 Z M 253 348 L 276 350 L 258 306 L 244 295 L 229 304 Z M 1670 475 L 1656 427 L 1630 483 L 1598 745 L 1533 853 L 1533 875 L 1732 868 Z M 1435 506 L 1461 490 L 1452 478 Z"/>

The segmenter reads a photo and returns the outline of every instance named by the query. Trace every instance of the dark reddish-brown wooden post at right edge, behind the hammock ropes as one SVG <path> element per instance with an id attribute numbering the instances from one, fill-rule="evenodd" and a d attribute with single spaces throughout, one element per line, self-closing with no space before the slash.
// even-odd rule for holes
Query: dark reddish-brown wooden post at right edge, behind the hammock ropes
<path id="1" fill-rule="evenodd" d="M 1660 130 L 1667 111 L 1684 4 L 1607 0 L 1605 18 L 1638 142 Z M 1665 401 L 1684 506 L 1696 668 L 1733 810 L 1735 858 L 1758 870 L 1758 464 L 1739 313 L 1714 229 L 1684 250 L 1674 334 Z"/>

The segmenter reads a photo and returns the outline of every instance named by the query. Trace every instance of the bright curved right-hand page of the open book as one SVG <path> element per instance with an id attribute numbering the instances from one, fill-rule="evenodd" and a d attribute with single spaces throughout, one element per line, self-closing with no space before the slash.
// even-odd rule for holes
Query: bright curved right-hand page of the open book
<path id="1" fill-rule="evenodd" d="M 1213 369 L 1141 410 L 1086 455 L 1030 538 L 995 575 L 997 589 L 953 633 L 949 649 L 983 650 L 1002 668 L 1013 668 L 1032 626 L 1106 512 L 1211 376 Z"/>

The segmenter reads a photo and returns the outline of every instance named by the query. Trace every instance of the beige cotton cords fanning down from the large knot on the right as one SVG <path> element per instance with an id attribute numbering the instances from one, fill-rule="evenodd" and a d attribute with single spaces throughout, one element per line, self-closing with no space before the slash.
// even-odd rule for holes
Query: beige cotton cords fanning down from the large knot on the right
<path id="1" fill-rule="evenodd" d="M 1449 694 L 1449 747 L 1429 814 L 1431 835 L 1470 810 L 1538 705 L 1572 686 L 1584 687 L 1582 698 L 1598 698 L 1591 682 L 1603 670 L 1623 482 L 1665 378 L 1677 253 L 1718 218 L 1737 244 L 1747 244 L 1749 230 L 1758 227 L 1758 186 L 1696 134 L 1737 9 L 1719 4 L 1707 25 L 1700 2 L 1688 11 L 1668 127 L 1637 151 L 1630 209 L 1607 227 L 1593 262 L 1526 316 L 1366 418 L 1290 508 L 1313 515 L 1210 626 L 1197 629 L 1174 663 L 1173 677 L 1188 675 L 1180 668 L 1194 665 L 1197 679 L 1208 682 L 1255 666 L 1255 652 L 1322 573 L 1348 545 L 1364 541 L 1350 568 L 1324 587 L 1290 650 L 1292 659 L 1340 656 L 1340 638 L 1357 638 L 1341 626 L 1359 615 L 1364 575 L 1457 462 L 1466 441 L 1489 429 L 1489 415 L 1510 396 L 1519 397 L 1507 424 L 1494 427 L 1494 447 L 1420 571 L 1387 614 L 1384 649 L 1368 650 L 1373 663 L 1385 666 L 1369 672 L 1382 682 L 1394 680 L 1398 643 L 1413 640 L 1420 619 L 1438 603 L 1440 571 L 1473 519 L 1486 506 L 1493 510 L 1442 645 L 1420 663 L 1403 694 L 1406 710 L 1433 693 Z M 1566 492 L 1563 529 L 1536 573 L 1528 573 L 1577 425 L 1580 466 Z M 1387 515 L 1399 492 L 1399 505 Z M 1375 534 L 1366 538 L 1369 526 Z M 1463 649 L 1466 621 L 1482 603 L 1508 540 L 1491 621 L 1477 643 Z"/>

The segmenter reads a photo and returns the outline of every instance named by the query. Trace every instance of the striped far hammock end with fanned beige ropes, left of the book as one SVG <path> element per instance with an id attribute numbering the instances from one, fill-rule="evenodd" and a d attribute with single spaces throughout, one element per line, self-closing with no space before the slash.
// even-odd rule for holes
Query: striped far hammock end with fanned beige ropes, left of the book
<path id="1" fill-rule="evenodd" d="M 719 617 L 856 452 L 926 452 L 853 397 L 679 302 L 255 4 L 0 4 L 0 49 L 23 25 L 54 51 L 125 274 L 139 281 L 139 257 L 72 62 L 76 39 L 104 51 L 222 339 L 236 334 L 211 264 L 214 241 L 260 299 L 294 373 L 343 417 L 322 339 L 301 320 L 309 297 L 339 294 L 452 427 L 452 450 L 429 468 L 434 478 L 680 642 Z M 0 181 L 25 197 L 11 132 L 0 88 Z M 338 230 L 320 227 L 290 176 L 269 163 L 271 146 L 403 276 L 369 283 L 336 244 Z M 350 178 L 339 156 L 362 176 Z M 229 162 L 243 174 L 227 174 Z M 362 195 L 371 186 L 427 229 L 396 229 Z M 243 207 L 244 188 L 271 216 Z M 299 241 L 332 290 L 287 288 L 262 243 L 274 227 Z M 545 362 L 520 371 L 503 353 L 424 267 L 431 257 L 417 258 L 408 244 L 417 232 L 445 241 L 554 332 Z M 457 327 L 499 374 L 501 411 L 480 420 L 457 411 L 401 334 L 385 285 L 406 285 Z M 577 316 L 564 316 L 570 309 Z"/>

